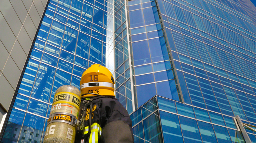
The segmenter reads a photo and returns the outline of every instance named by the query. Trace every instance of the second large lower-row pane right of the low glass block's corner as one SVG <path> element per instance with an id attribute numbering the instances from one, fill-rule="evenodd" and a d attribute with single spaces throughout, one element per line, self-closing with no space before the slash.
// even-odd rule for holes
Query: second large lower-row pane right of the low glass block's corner
<path id="1" fill-rule="evenodd" d="M 185 143 L 201 143 L 197 121 L 179 116 Z"/>

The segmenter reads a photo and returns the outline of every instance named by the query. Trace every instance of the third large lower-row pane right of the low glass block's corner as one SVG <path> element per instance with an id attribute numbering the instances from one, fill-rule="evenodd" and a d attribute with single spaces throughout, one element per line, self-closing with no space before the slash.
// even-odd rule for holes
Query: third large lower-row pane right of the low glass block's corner
<path id="1" fill-rule="evenodd" d="M 198 127 L 204 143 L 217 143 L 212 124 L 198 121 Z"/>

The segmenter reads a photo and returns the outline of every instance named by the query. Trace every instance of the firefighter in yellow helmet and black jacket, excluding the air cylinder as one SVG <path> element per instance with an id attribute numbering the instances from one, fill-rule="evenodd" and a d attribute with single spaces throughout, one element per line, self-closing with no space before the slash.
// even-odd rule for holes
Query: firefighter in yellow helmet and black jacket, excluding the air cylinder
<path id="1" fill-rule="evenodd" d="M 91 65 L 80 81 L 81 108 L 75 143 L 133 143 L 127 110 L 114 95 L 114 78 L 100 64 Z"/>

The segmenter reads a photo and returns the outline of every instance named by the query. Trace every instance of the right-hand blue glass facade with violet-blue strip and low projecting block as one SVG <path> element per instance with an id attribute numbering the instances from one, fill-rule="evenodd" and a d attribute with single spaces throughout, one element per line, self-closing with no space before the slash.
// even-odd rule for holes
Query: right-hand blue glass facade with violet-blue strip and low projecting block
<path id="1" fill-rule="evenodd" d="M 245 142 L 234 118 L 256 123 L 256 27 L 245 7 L 232 0 L 133 0 L 128 5 L 134 84 L 142 105 L 131 114 L 135 142 Z M 147 28 L 155 23 L 151 35 Z M 138 53 L 142 48 L 145 54 Z M 171 56 L 165 57 L 168 50 Z M 158 76 L 153 59 L 158 52 L 159 61 L 170 61 L 172 76 Z M 172 84 L 169 92 L 173 76 L 180 86 Z M 254 132 L 246 131 L 255 142 Z"/>

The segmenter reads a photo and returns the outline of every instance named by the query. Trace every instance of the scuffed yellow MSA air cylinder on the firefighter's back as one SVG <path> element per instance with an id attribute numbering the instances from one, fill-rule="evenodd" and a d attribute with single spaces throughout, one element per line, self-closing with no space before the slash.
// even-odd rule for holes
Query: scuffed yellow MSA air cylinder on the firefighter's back
<path id="1" fill-rule="evenodd" d="M 60 86 L 53 99 L 47 121 L 44 143 L 74 143 L 79 116 L 81 92 L 75 86 Z"/>

